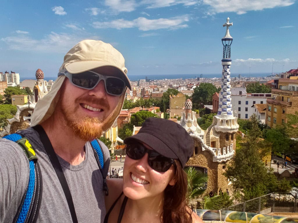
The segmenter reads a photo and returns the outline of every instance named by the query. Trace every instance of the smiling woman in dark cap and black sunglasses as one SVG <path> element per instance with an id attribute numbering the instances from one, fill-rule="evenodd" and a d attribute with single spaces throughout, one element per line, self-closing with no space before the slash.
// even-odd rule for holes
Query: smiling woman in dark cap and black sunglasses
<path id="1" fill-rule="evenodd" d="M 202 223 L 185 203 L 183 167 L 193 154 L 193 139 L 185 129 L 170 120 L 148 118 L 124 142 L 123 182 L 108 180 L 105 223 Z"/>

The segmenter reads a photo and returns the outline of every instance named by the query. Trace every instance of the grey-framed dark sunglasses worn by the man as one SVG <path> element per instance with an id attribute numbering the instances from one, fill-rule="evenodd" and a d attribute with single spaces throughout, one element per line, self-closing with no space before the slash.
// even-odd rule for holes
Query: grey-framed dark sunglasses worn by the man
<path id="1" fill-rule="evenodd" d="M 89 90 L 94 89 L 97 84 L 103 80 L 105 83 L 105 91 L 110 95 L 122 95 L 126 88 L 121 78 L 105 76 L 92 70 L 82 73 L 69 73 L 67 70 L 61 70 L 58 73 L 58 77 L 62 75 L 66 76 L 73 85 Z"/>

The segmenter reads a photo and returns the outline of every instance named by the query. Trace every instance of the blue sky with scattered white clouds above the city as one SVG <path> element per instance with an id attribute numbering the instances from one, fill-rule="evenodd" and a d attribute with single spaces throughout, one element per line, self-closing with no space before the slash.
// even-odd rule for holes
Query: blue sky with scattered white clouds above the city
<path id="1" fill-rule="evenodd" d="M 56 76 L 83 39 L 111 43 L 128 76 L 221 73 L 233 26 L 231 73 L 298 67 L 297 0 L 1 1 L 0 71 Z"/>

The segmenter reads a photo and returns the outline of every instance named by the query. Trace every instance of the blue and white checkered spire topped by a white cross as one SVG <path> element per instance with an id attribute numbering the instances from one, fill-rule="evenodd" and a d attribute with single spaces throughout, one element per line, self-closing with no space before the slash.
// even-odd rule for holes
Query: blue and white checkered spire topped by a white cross
<path id="1" fill-rule="evenodd" d="M 229 23 L 229 17 L 226 19 L 226 35 L 221 39 L 224 45 L 223 59 L 221 60 L 221 65 L 223 66 L 222 78 L 221 78 L 221 93 L 219 95 L 219 106 L 218 115 L 232 115 L 232 104 L 231 104 L 231 78 L 230 78 L 230 66 L 232 64 L 231 60 L 231 44 L 233 37 L 230 36 L 229 26 L 233 23 Z"/>

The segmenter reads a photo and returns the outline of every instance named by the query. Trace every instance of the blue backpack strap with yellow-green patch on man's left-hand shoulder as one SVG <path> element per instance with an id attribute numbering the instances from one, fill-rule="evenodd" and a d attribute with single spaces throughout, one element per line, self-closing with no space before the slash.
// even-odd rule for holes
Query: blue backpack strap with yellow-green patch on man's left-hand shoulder
<path id="1" fill-rule="evenodd" d="M 29 183 L 13 222 L 36 222 L 41 202 L 42 179 L 35 151 L 28 139 L 20 134 L 10 134 L 3 137 L 20 145 L 29 160 Z"/>

